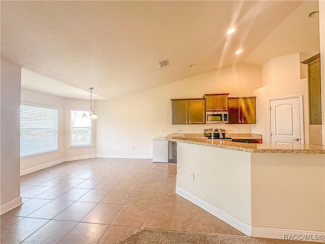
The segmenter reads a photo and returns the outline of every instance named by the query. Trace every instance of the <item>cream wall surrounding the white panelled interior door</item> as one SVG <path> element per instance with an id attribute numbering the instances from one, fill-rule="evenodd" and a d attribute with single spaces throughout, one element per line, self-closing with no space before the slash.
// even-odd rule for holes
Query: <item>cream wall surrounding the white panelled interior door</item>
<path id="1" fill-rule="evenodd" d="M 270 143 L 269 99 L 303 95 L 304 139 L 309 143 L 308 80 L 300 79 L 299 53 L 275 57 L 262 67 L 263 87 L 254 91 L 256 96 L 256 125 L 252 133 L 262 134 L 263 143 Z"/>

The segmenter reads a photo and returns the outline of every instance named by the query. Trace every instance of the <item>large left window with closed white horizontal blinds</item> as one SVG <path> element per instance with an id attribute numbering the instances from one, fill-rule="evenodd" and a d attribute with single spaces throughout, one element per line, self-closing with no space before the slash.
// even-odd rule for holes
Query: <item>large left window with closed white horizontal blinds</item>
<path id="1" fill-rule="evenodd" d="M 20 105 L 20 157 L 57 150 L 57 109 Z"/>

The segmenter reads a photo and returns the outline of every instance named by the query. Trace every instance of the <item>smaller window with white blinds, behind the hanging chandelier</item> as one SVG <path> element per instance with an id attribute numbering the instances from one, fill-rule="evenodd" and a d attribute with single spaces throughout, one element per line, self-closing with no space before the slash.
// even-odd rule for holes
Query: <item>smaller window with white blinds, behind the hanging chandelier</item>
<path id="1" fill-rule="evenodd" d="M 86 118 L 82 117 L 83 113 L 86 113 Z M 70 111 L 70 146 L 91 146 L 91 118 L 89 111 Z"/>

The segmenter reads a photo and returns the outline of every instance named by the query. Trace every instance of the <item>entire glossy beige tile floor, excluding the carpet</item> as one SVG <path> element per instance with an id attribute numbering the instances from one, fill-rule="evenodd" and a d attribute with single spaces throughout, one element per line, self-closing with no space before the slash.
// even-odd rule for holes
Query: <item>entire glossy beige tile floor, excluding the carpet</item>
<path id="1" fill-rule="evenodd" d="M 242 235 L 175 194 L 176 164 L 87 159 L 21 176 L 1 243 L 112 243 L 142 226 Z"/>

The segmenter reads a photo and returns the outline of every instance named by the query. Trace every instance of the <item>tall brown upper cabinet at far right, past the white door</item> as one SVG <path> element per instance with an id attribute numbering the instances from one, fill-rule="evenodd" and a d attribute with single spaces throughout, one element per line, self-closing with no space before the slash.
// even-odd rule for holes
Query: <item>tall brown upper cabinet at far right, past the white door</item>
<path id="1" fill-rule="evenodd" d="M 308 65 L 309 125 L 321 125 L 320 54 L 301 63 Z"/>

